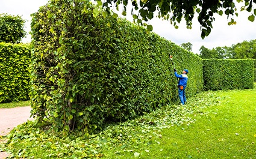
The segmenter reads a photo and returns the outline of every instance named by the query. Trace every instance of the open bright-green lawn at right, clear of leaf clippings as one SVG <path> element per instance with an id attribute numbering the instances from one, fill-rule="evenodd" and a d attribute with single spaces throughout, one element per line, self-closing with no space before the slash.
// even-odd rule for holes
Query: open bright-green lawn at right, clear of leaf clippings
<path id="1" fill-rule="evenodd" d="M 163 131 L 161 157 L 255 158 L 255 90 L 217 92 L 221 104 L 207 107 L 207 115 L 196 116 L 184 129 Z M 160 157 L 160 155 L 158 155 Z M 161 158 L 160 157 L 160 158 Z"/>

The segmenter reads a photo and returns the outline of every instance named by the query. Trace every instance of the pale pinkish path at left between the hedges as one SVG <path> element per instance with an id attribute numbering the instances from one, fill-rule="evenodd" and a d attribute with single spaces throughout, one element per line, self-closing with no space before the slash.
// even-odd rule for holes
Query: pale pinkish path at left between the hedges
<path id="1" fill-rule="evenodd" d="M 5 136 L 19 124 L 27 122 L 30 118 L 31 107 L 15 107 L 0 109 L 0 136 Z M 0 159 L 7 157 L 6 152 L 0 152 Z"/>

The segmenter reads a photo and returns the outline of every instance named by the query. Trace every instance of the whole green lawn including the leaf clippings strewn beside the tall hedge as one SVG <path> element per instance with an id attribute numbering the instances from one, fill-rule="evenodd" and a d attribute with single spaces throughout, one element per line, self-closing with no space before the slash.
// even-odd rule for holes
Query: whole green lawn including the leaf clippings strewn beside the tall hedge
<path id="1" fill-rule="evenodd" d="M 0 151 L 10 158 L 256 158 L 256 90 L 203 92 L 109 125 L 99 134 L 52 134 L 19 125 Z"/>

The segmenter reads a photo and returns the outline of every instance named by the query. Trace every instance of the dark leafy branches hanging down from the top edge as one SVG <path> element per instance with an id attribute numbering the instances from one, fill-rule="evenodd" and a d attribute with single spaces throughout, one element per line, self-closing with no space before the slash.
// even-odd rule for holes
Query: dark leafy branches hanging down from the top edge
<path id="1" fill-rule="evenodd" d="M 122 14 L 126 15 L 126 7 L 128 6 L 128 0 L 105 0 L 102 4 L 101 0 L 95 0 L 99 5 L 106 8 L 109 12 L 113 6 L 116 7 L 117 11 L 120 9 L 120 5 L 123 6 Z M 132 9 L 131 14 L 133 15 L 134 21 L 142 25 L 148 20 L 154 17 L 154 13 L 158 14 L 157 17 L 164 20 L 169 20 L 175 28 L 178 28 L 177 23 L 180 23 L 184 18 L 186 20 L 187 28 L 192 28 L 192 19 L 195 16 L 195 11 L 198 13 L 198 22 L 201 25 L 201 37 L 204 38 L 208 36 L 213 28 L 214 13 L 220 16 L 225 13 L 227 17 L 231 17 L 228 25 L 236 24 L 233 16 L 238 16 L 236 3 L 243 3 L 241 10 L 246 10 L 251 14 L 248 19 L 253 22 L 256 15 L 255 0 L 212 0 L 212 1 L 202 1 L 202 0 L 191 0 L 191 1 L 176 1 L 176 0 L 131 0 Z M 147 24 L 145 24 L 147 25 Z M 148 25 L 148 29 L 152 30 L 152 26 Z"/>

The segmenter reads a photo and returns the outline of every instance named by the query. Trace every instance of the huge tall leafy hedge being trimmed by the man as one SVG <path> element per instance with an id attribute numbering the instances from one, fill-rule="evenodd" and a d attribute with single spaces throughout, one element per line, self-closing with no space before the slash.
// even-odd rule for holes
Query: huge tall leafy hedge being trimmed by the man
<path id="1" fill-rule="evenodd" d="M 202 90 L 202 61 L 132 23 L 105 18 L 88 1 L 49 1 L 33 14 L 33 115 L 55 130 L 101 130 L 176 99 L 176 69 L 190 70 L 187 95 Z"/>

